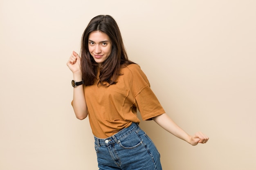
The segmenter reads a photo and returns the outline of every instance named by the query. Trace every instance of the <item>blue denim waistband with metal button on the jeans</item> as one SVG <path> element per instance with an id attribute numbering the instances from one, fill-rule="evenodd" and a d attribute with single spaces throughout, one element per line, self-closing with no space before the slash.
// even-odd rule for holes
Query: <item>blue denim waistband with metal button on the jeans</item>
<path id="1" fill-rule="evenodd" d="M 119 140 L 128 136 L 133 131 L 139 131 L 140 127 L 137 123 L 132 122 L 132 124 L 128 128 L 124 128 L 121 131 L 117 132 L 115 135 L 108 137 L 106 139 L 101 139 L 94 136 L 95 144 L 98 146 L 110 145 L 113 143 L 119 143 Z"/>

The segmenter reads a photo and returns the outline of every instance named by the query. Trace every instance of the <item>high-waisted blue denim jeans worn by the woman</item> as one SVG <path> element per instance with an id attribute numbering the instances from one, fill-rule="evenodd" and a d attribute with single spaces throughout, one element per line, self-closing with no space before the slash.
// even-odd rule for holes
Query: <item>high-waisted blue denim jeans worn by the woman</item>
<path id="1" fill-rule="evenodd" d="M 157 148 L 136 123 L 106 139 L 94 139 L 99 170 L 162 170 Z"/>

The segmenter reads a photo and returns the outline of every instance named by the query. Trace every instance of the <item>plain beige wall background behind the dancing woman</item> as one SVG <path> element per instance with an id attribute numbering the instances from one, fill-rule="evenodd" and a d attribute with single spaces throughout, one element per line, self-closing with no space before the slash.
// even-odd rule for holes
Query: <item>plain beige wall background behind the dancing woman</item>
<path id="1" fill-rule="evenodd" d="M 141 122 L 164 170 L 256 169 L 254 0 L 0 0 L 0 170 L 96 170 L 88 119 L 75 118 L 72 73 L 99 14 L 120 26 L 162 106 L 190 146 Z"/>

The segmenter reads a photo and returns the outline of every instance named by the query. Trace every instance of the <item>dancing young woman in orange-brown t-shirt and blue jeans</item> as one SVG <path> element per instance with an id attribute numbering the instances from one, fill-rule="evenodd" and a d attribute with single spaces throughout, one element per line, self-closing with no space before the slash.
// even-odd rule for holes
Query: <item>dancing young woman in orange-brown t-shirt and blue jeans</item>
<path id="1" fill-rule="evenodd" d="M 128 60 L 117 23 L 98 15 L 86 27 L 81 57 L 73 51 L 67 66 L 73 73 L 72 106 L 78 119 L 89 116 L 99 170 L 162 170 L 157 148 L 139 127 L 143 120 L 191 145 L 206 143 L 197 132 L 190 136 L 165 113 L 139 65 Z"/>

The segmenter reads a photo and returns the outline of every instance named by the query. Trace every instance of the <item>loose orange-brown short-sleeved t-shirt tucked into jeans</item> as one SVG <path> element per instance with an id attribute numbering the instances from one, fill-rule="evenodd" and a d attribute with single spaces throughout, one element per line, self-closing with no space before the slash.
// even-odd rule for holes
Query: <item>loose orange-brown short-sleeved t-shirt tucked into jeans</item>
<path id="1" fill-rule="evenodd" d="M 143 120 L 165 113 L 139 65 L 130 64 L 120 73 L 117 83 L 108 87 L 98 82 L 83 86 L 90 126 L 96 137 L 105 139 L 132 122 L 139 123 L 137 109 Z"/>

